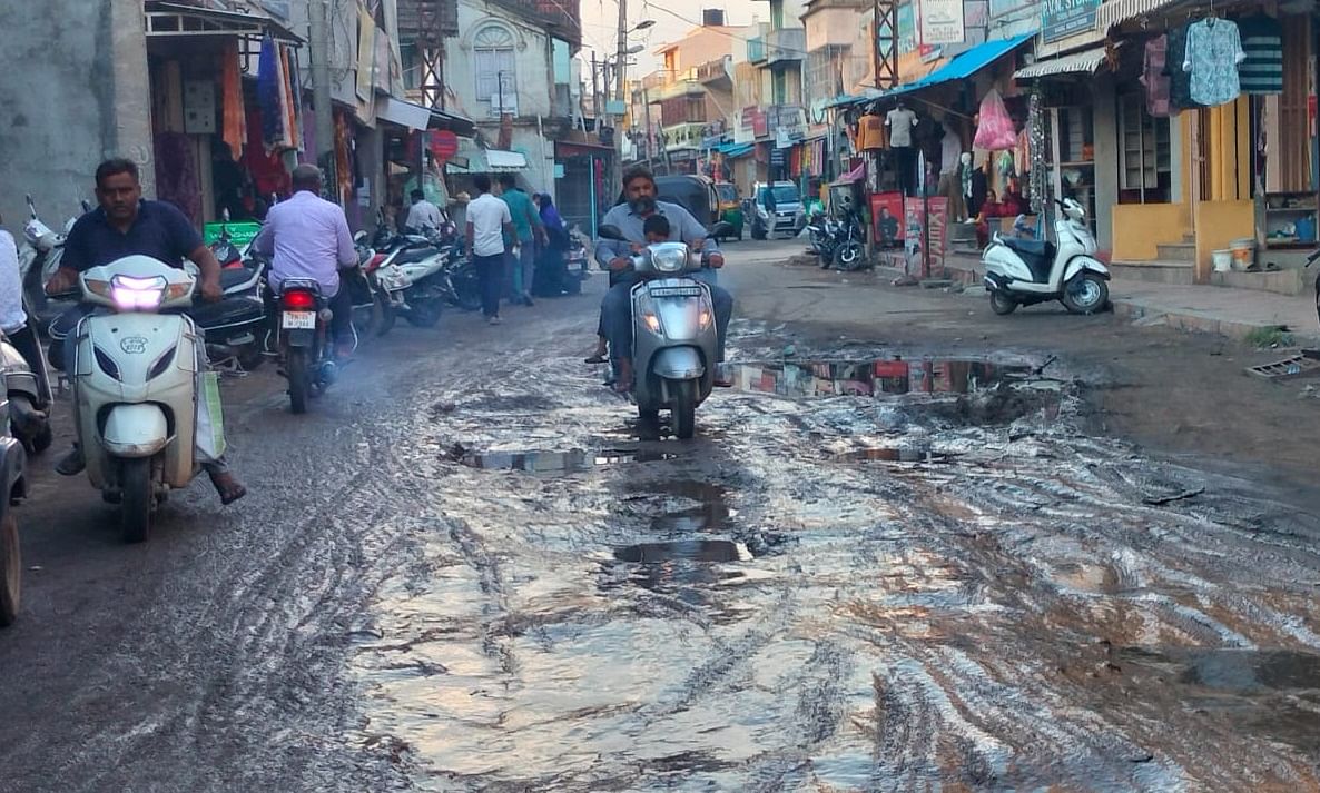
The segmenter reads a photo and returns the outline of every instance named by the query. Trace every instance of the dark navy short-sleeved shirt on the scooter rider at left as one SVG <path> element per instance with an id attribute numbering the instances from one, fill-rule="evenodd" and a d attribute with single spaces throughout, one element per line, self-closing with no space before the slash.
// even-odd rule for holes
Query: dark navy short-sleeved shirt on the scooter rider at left
<path id="1" fill-rule="evenodd" d="M 143 201 L 128 234 L 111 226 L 106 210 L 99 207 L 78 218 L 65 240 L 59 265 L 84 272 L 124 256 L 150 256 L 170 267 L 183 267 L 183 260 L 201 245 L 202 235 L 174 205 Z"/>

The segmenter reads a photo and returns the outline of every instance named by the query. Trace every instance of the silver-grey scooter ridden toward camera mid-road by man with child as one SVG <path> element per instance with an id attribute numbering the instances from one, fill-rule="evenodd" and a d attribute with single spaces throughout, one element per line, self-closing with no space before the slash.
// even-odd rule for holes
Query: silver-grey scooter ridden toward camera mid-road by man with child
<path id="1" fill-rule="evenodd" d="M 727 223 L 717 223 L 711 234 Z M 614 226 L 602 226 L 603 239 L 626 241 Z M 632 288 L 632 360 L 638 414 L 659 421 L 669 410 L 673 433 L 696 434 L 697 406 L 710 396 L 715 375 L 715 311 L 710 288 L 692 274 L 702 257 L 684 243 L 647 245 L 632 256 L 639 281 Z"/>

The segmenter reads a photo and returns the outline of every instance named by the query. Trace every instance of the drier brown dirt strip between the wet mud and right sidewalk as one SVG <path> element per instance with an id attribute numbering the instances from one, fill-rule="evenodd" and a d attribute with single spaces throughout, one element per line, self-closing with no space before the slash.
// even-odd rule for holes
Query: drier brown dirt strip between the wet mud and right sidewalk
<path id="1" fill-rule="evenodd" d="M 1089 384 L 1102 431 L 1209 464 L 1266 464 L 1299 482 L 1315 470 L 1320 401 L 1305 392 L 1308 380 L 1279 384 L 1245 372 L 1287 351 L 1113 314 L 1073 317 L 1057 303 L 997 317 L 983 297 L 895 288 L 879 274 L 752 256 L 734 263 L 727 282 L 739 317 L 788 323 L 817 343 L 846 335 L 913 352 L 1059 355 Z"/>

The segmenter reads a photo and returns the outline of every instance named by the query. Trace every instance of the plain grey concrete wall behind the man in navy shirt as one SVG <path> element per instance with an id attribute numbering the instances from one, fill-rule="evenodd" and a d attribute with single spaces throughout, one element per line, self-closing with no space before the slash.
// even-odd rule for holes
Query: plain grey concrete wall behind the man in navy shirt
<path id="1" fill-rule="evenodd" d="M 44 0 L 5 21 L 0 69 L 15 79 L 0 80 L 4 227 L 21 235 L 30 193 L 61 228 L 92 199 L 96 164 L 110 156 L 143 165 L 154 194 L 141 4 Z"/>

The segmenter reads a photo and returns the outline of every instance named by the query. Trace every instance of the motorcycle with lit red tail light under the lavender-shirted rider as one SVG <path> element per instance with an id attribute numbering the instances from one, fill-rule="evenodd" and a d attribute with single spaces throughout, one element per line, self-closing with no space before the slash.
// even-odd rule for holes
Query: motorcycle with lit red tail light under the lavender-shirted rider
<path id="1" fill-rule="evenodd" d="M 275 296 L 280 321 L 276 350 L 289 381 L 289 406 L 308 412 L 308 400 L 325 393 L 339 375 L 330 343 L 331 313 L 312 278 L 285 278 Z"/>

